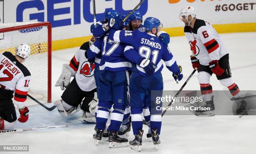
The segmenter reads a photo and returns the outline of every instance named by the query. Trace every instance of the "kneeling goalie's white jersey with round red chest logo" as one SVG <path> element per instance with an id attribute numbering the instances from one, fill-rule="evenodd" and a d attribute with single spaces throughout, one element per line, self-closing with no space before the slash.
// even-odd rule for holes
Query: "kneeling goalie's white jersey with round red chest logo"
<path id="1" fill-rule="evenodd" d="M 91 74 L 89 74 L 90 62 L 85 57 L 85 52 L 88 48 L 89 42 L 85 42 L 69 62 L 69 67 L 72 68 L 72 72 L 76 72 L 75 78 L 78 86 L 85 92 L 90 92 L 96 88 L 94 79 L 95 64 L 92 64 L 92 71 Z"/>

